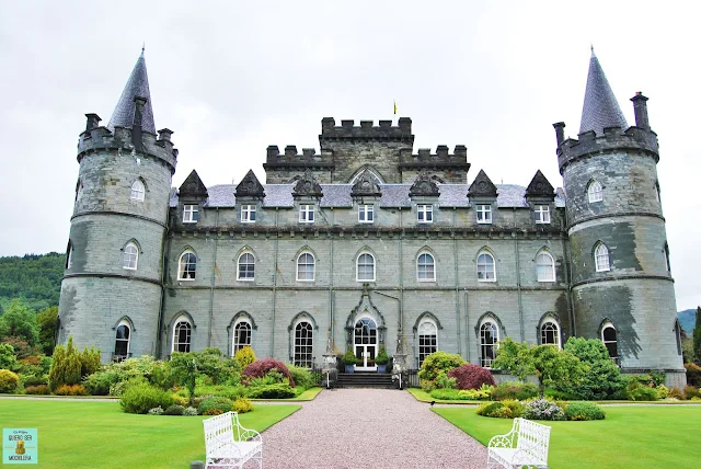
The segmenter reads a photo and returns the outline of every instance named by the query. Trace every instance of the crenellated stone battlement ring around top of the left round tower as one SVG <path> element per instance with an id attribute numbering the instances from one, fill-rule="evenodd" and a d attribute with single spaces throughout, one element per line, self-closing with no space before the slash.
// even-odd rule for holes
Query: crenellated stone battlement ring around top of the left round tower
<path id="1" fill-rule="evenodd" d="M 163 128 L 158 131 L 158 137 L 147 131 L 139 131 L 140 129 L 133 130 L 125 127 L 115 127 L 112 133 L 107 127 L 99 125 L 101 118 L 96 114 L 85 114 L 85 116 L 88 117 L 85 130 L 80 134 L 78 140 L 78 162 L 91 151 L 122 150 L 128 153 L 138 151 L 162 160 L 170 167 L 171 173 L 175 172 L 177 149 L 173 148 L 171 141 L 173 130 Z M 137 148 L 134 144 L 135 131 L 140 134 L 140 140 L 137 141 L 141 142 L 141 148 Z"/>

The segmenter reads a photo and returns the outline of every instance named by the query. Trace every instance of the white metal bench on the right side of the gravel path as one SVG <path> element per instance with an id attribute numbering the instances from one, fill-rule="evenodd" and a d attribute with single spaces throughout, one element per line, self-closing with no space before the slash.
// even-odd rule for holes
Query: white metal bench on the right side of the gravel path
<path id="1" fill-rule="evenodd" d="M 550 426 L 526 419 L 514 419 L 506 435 L 490 439 L 486 467 L 547 468 Z"/>

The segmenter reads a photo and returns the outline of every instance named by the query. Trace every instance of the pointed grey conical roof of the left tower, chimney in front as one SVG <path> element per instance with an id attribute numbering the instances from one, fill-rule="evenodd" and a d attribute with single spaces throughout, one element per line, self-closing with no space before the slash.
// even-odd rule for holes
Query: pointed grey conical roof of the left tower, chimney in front
<path id="1" fill-rule="evenodd" d="M 115 127 L 131 128 L 134 124 L 134 99 L 136 96 L 146 98 L 143 115 L 141 116 L 141 129 L 156 135 L 156 123 L 153 122 L 153 108 L 151 107 L 151 92 L 149 91 L 149 77 L 146 72 L 146 59 L 143 49 L 131 70 L 127 85 L 124 87 L 117 106 L 112 113 L 107 128 L 114 131 Z"/>

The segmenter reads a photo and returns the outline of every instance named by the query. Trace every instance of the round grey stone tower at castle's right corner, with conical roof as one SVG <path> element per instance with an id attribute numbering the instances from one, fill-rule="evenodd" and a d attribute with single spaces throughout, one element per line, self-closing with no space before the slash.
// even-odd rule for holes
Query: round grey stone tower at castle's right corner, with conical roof
<path id="1" fill-rule="evenodd" d="M 665 218 L 657 135 L 637 93 L 628 127 L 591 54 L 578 140 L 554 124 L 566 193 L 576 334 L 604 341 L 623 373 L 686 384 Z"/>

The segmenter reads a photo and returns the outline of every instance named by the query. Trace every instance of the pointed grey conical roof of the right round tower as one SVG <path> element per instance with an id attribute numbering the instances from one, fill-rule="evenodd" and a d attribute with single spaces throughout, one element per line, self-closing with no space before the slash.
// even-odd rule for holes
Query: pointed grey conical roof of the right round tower
<path id="1" fill-rule="evenodd" d="M 594 48 L 591 48 L 579 134 L 594 130 L 596 135 L 604 135 L 606 127 L 625 129 L 628 128 L 628 123 L 623 117 L 621 107 L 618 105 L 618 101 L 616 101 L 609 81 L 606 79 L 599 59 L 594 54 Z"/>

